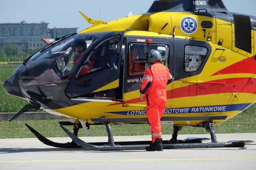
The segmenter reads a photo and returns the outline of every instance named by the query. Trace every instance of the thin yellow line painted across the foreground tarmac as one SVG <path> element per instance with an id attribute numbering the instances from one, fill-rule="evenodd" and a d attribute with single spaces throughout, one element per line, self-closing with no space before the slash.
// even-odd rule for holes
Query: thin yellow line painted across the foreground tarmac
<path id="1" fill-rule="evenodd" d="M 211 161 L 211 160 L 241 160 L 256 159 L 252 157 L 234 158 L 173 158 L 173 159 L 98 159 L 98 160 L 0 160 L 0 163 L 22 163 L 22 162 L 145 162 L 145 161 Z"/>

